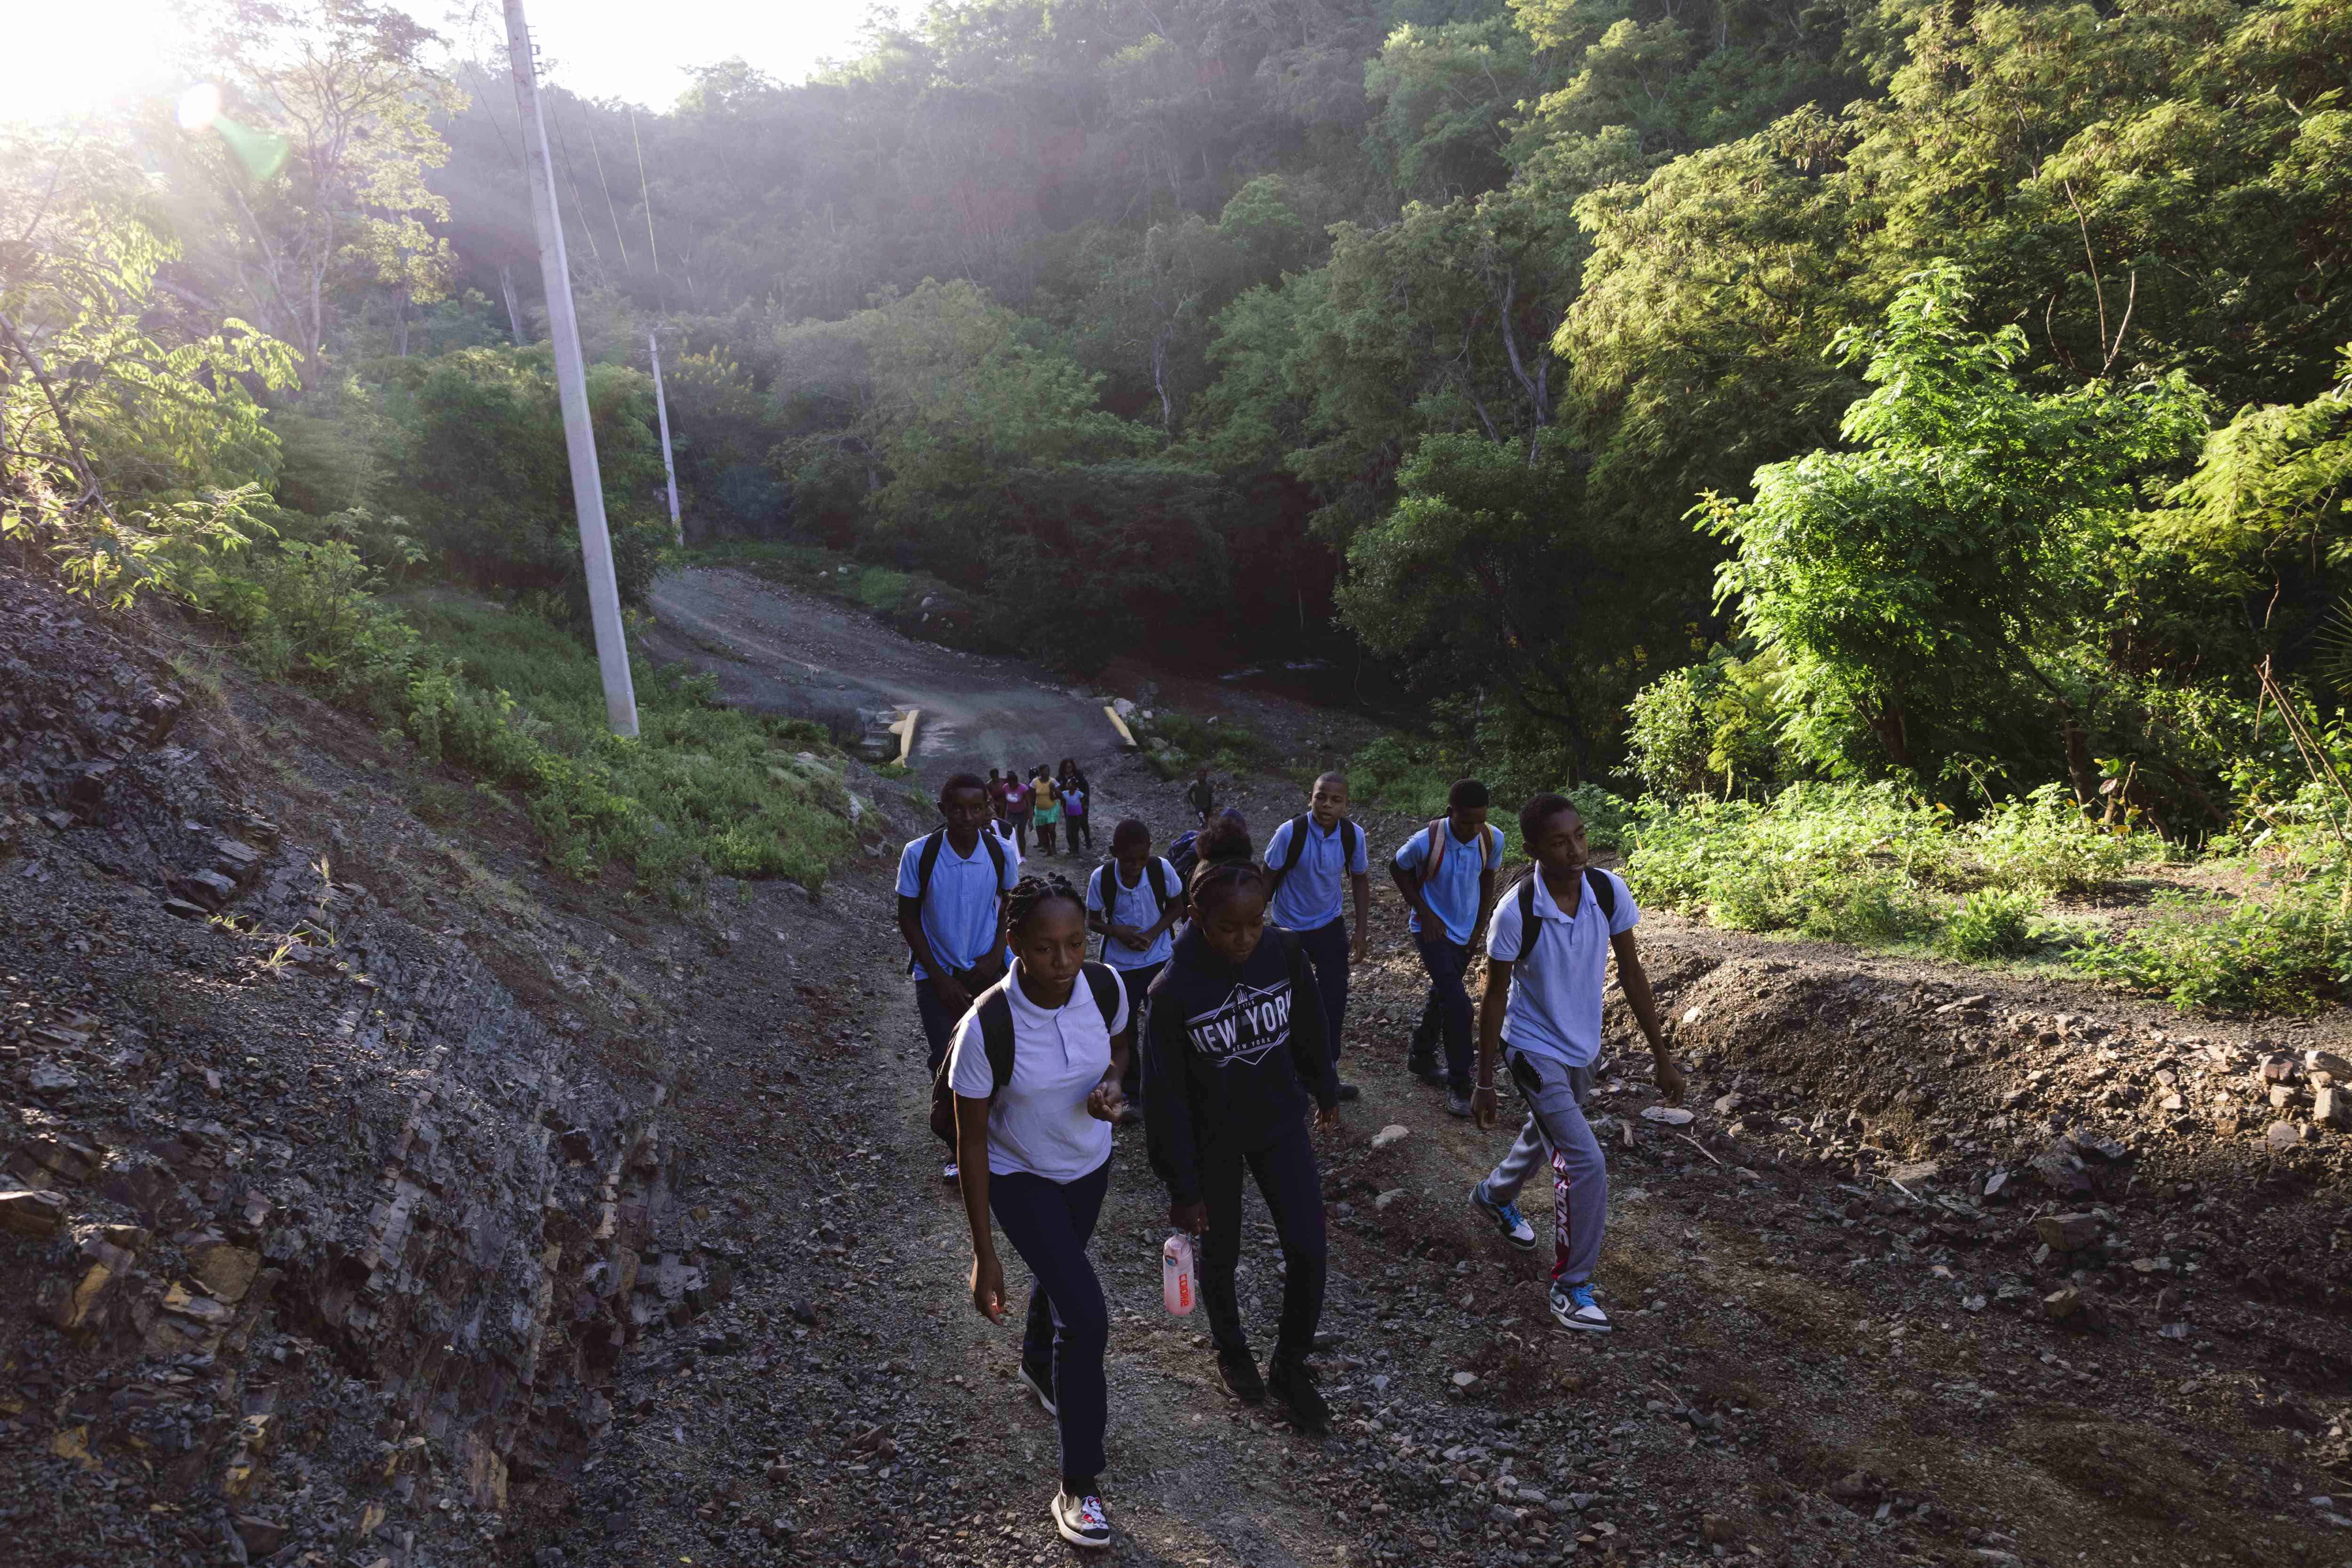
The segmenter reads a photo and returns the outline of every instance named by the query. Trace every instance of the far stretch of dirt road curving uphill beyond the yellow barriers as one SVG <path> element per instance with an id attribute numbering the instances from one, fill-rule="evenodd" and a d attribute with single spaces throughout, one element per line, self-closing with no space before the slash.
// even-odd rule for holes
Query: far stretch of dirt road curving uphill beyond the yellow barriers
<path id="1" fill-rule="evenodd" d="M 901 637 L 873 616 L 727 567 L 689 567 L 654 585 L 654 614 L 684 637 L 668 644 L 720 677 L 727 701 L 807 717 L 842 705 L 915 708 L 915 769 L 948 773 L 1082 759 L 1089 771 L 1120 736 L 1094 703 L 1007 658 Z"/>

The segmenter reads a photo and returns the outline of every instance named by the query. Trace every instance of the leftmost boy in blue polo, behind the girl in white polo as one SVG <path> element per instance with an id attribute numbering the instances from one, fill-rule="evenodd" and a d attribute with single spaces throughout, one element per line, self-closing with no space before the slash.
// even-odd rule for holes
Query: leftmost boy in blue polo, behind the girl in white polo
<path id="1" fill-rule="evenodd" d="M 1021 858 L 988 830 L 983 778 L 948 778 L 938 788 L 938 816 L 946 827 L 898 853 L 898 936 L 934 1077 L 955 1020 L 1004 973 L 1004 898 L 1021 875 Z M 941 1178 L 955 1180 L 955 1161 Z"/>

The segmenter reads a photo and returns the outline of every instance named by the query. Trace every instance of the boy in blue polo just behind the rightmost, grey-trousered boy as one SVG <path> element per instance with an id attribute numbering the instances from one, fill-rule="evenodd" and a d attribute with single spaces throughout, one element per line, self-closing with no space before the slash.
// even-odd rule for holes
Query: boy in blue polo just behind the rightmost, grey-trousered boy
<path id="1" fill-rule="evenodd" d="M 1489 795 L 1477 778 L 1458 778 L 1446 813 L 1397 846 L 1388 863 L 1397 891 L 1414 910 L 1414 947 L 1430 976 L 1406 1070 L 1446 1088 L 1446 1110 L 1470 1114 L 1470 992 L 1463 976 L 1477 947 L 1479 917 L 1494 905 L 1494 872 L 1503 865 L 1503 830 L 1486 825 Z M 1444 1039 L 1446 1065 L 1437 1067 Z"/>

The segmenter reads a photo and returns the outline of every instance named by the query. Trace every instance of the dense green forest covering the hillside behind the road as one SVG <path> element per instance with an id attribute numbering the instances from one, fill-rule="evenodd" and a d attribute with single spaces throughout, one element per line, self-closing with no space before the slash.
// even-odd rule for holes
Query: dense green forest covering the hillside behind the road
<path id="1" fill-rule="evenodd" d="M 506 61 L 212 24 L 216 113 L 9 139 L 9 534 L 249 625 L 329 567 L 560 614 Z M 1077 670 L 1348 644 L 1526 778 L 2201 837 L 2352 679 L 2345 0 L 969 0 L 550 82 L 630 595 L 659 331 L 694 543 Z"/>

